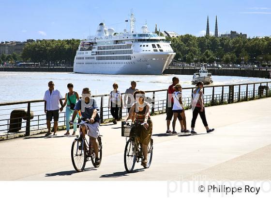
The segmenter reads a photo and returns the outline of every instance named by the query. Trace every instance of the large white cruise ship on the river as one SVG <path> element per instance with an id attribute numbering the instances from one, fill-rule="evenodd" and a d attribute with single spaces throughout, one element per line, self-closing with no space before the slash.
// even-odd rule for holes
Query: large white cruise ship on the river
<path id="1" fill-rule="evenodd" d="M 126 20 L 127 22 L 128 20 Z M 130 32 L 115 33 L 100 23 L 95 36 L 82 40 L 76 51 L 74 72 L 90 74 L 161 74 L 175 52 L 165 36 L 148 31 L 135 32 L 135 16 L 130 16 Z"/>

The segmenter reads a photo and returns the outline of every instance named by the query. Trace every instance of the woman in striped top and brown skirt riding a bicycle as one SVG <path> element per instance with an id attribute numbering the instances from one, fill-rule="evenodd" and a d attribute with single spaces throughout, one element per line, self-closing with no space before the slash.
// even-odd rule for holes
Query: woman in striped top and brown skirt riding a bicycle
<path id="1" fill-rule="evenodd" d="M 131 132 L 139 135 L 137 137 L 139 143 L 142 145 L 142 151 L 144 159 L 141 162 L 142 166 L 146 166 L 148 163 L 148 145 L 151 140 L 152 133 L 152 121 L 150 117 L 150 104 L 144 101 L 145 92 L 138 90 L 134 93 L 135 103 L 132 105 L 129 115 L 125 119 L 132 119 L 133 113 L 135 113 L 135 125 L 132 127 Z"/>

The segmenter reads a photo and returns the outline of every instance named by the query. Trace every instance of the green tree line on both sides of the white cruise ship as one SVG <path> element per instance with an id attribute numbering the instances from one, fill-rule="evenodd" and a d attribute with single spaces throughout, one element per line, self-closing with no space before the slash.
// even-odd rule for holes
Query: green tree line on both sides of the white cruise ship
<path id="1" fill-rule="evenodd" d="M 169 38 L 176 52 L 175 60 L 186 63 L 269 63 L 271 62 L 271 38 L 234 39 L 191 34 Z M 37 40 L 26 44 L 21 54 L 0 56 L 0 63 L 24 61 L 44 64 L 73 65 L 79 39 Z"/>

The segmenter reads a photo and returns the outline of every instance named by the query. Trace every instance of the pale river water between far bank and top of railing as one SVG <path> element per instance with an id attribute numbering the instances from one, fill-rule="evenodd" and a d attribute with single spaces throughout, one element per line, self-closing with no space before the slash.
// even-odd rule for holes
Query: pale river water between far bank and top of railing
<path id="1" fill-rule="evenodd" d="M 82 88 L 89 87 L 92 95 L 108 94 L 114 82 L 119 84 L 120 92 L 130 87 L 131 81 L 141 90 L 167 89 L 172 77 L 177 76 L 183 87 L 193 87 L 193 75 L 97 75 L 69 72 L 0 72 L 0 102 L 43 99 L 48 82 L 55 83 L 62 96 L 68 92 L 67 84 L 73 83 L 79 94 Z M 268 81 L 263 78 L 212 76 L 213 85 L 237 84 Z"/>

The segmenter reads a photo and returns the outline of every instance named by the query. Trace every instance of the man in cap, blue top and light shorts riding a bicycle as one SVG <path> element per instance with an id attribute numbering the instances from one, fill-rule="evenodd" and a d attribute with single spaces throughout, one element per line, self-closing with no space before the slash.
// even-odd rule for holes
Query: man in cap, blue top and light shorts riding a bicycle
<path id="1" fill-rule="evenodd" d="M 99 136 L 99 125 L 100 125 L 100 116 L 98 114 L 98 107 L 96 101 L 90 98 L 90 89 L 83 88 L 82 99 L 79 99 L 75 105 L 75 111 L 70 121 L 70 124 L 73 124 L 75 116 L 78 111 L 81 111 L 82 122 L 80 123 L 80 132 L 82 136 L 85 137 L 85 134 L 88 131 L 90 136 L 90 142 L 92 143 L 94 152 L 95 152 L 95 165 L 99 165 L 101 160 L 98 158 L 98 143 L 97 138 Z M 82 101 L 83 100 L 83 101 Z"/>

